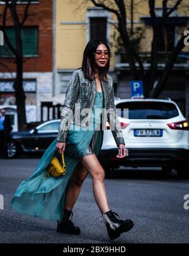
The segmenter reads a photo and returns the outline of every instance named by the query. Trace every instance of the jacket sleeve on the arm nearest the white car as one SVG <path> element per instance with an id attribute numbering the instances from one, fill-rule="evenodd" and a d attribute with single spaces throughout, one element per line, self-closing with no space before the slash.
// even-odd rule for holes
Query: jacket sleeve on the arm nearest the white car
<path id="1" fill-rule="evenodd" d="M 117 144 L 117 147 L 119 144 L 125 144 L 125 141 L 123 139 L 122 130 L 120 127 L 120 121 L 118 120 L 117 110 L 115 107 L 115 98 L 114 98 L 114 91 L 113 91 L 113 79 L 110 77 L 110 100 L 111 100 L 111 108 L 113 108 L 113 116 L 108 115 L 108 122 L 110 124 L 110 129 L 112 131 L 113 137 L 115 139 L 115 143 Z M 112 129 L 113 128 L 113 129 Z"/>

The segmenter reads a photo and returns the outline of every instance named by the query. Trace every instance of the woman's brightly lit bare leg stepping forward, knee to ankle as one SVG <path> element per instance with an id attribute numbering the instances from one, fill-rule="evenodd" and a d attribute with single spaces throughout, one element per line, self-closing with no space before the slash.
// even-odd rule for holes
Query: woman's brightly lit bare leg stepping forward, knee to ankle
<path id="1" fill-rule="evenodd" d="M 81 163 L 93 178 L 93 194 L 101 213 L 104 214 L 105 212 L 110 211 L 105 190 L 105 171 L 100 165 L 96 154 L 84 156 Z"/>

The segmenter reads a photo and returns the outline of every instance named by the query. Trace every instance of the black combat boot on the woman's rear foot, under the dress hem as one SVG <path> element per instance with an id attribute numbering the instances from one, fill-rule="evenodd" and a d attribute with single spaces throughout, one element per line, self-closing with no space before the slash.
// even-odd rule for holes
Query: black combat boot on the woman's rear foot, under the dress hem
<path id="1" fill-rule="evenodd" d="M 71 235 L 79 235 L 80 234 L 80 228 L 77 226 L 74 226 L 74 223 L 72 223 L 71 219 L 73 216 L 72 211 L 64 210 L 64 216 L 61 222 L 57 224 L 57 232 L 59 233 L 66 233 Z"/>

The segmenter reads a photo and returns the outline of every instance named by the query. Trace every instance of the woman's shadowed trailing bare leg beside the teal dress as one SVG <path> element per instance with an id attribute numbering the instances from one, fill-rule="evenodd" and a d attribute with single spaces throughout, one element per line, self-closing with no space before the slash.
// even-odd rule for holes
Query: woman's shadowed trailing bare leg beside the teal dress
<path id="1" fill-rule="evenodd" d="M 74 204 L 77 201 L 77 197 L 81 191 L 81 186 L 88 175 L 88 170 L 79 162 L 74 170 L 69 187 L 66 193 L 65 209 L 72 211 Z"/>

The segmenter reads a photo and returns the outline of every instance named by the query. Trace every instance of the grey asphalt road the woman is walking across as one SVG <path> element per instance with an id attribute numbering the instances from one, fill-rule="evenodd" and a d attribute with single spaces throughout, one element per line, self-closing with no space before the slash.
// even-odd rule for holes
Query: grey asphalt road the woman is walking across
<path id="1" fill-rule="evenodd" d="M 93 198 L 92 180 L 86 178 L 74 207 L 74 223 L 81 235 L 56 233 L 56 222 L 19 214 L 9 208 L 18 185 L 35 170 L 35 158 L 0 160 L 0 243 L 110 243 L 101 214 Z M 111 243 L 188 243 L 189 209 L 184 195 L 189 194 L 188 180 L 159 170 L 115 170 L 106 179 L 110 207 L 121 218 L 130 218 L 135 226 Z M 189 203 L 188 203 L 189 205 Z"/>

